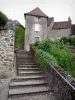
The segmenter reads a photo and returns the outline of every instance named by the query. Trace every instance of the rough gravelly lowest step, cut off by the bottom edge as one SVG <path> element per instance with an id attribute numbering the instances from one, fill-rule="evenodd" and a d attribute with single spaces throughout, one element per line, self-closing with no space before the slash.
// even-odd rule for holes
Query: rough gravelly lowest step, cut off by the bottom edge
<path id="1" fill-rule="evenodd" d="M 48 91 L 30 95 L 12 96 L 8 100 L 56 100 L 56 97 L 54 91 Z"/>

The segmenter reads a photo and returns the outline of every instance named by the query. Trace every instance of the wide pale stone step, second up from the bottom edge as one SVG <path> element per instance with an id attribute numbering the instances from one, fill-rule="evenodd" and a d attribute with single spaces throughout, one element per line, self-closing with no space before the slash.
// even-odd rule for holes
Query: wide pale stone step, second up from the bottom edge
<path id="1" fill-rule="evenodd" d="M 19 89 L 9 89 L 9 97 L 10 96 L 20 96 L 20 95 L 29 95 L 29 94 L 35 94 L 35 93 L 43 93 L 43 92 L 49 92 L 50 88 L 49 86 L 36 86 L 36 87 L 25 87 L 25 88 L 19 88 Z"/>

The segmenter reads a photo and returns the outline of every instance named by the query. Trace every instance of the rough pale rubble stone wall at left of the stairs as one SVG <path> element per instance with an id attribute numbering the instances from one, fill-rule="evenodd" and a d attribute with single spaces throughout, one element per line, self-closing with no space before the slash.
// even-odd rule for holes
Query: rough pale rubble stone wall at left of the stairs
<path id="1" fill-rule="evenodd" d="M 0 79 L 12 76 L 14 58 L 14 31 L 0 32 Z"/>

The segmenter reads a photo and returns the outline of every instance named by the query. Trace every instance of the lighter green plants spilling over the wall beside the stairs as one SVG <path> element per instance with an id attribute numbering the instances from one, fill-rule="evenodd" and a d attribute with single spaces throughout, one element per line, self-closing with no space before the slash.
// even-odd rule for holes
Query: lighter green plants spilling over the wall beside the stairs
<path id="1" fill-rule="evenodd" d="M 43 50 L 36 50 L 36 61 L 45 71 L 48 63 L 57 63 L 56 59 L 49 53 L 44 52 Z"/>

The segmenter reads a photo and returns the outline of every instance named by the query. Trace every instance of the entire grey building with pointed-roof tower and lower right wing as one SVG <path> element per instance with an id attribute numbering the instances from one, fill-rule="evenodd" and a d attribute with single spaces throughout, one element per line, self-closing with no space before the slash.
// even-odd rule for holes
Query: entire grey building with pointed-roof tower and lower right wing
<path id="1" fill-rule="evenodd" d="M 46 36 L 57 39 L 68 37 L 71 34 L 71 20 L 54 22 L 54 17 L 48 17 L 38 7 L 25 13 L 25 42 L 24 49 L 29 50 L 29 45 L 36 40 L 43 40 Z"/>

